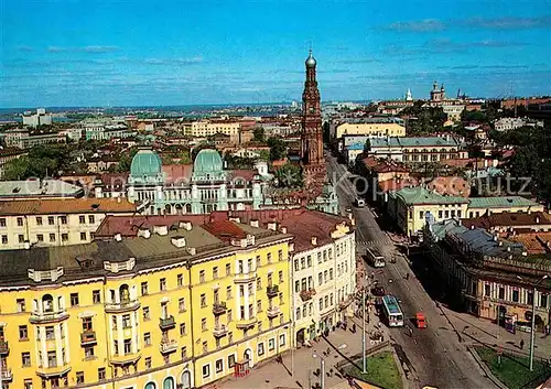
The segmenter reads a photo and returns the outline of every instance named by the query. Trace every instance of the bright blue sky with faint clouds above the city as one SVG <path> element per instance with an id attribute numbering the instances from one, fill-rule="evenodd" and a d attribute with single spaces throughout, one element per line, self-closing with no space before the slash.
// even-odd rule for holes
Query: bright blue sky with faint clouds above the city
<path id="1" fill-rule="evenodd" d="M 551 94 L 548 0 L 0 0 L 0 107 Z"/>

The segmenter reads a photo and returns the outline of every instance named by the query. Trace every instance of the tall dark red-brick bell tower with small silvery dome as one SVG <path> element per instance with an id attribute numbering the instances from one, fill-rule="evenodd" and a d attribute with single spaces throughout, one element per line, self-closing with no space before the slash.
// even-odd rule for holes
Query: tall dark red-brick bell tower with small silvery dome
<path id="1" fill-rule="evenodd" d="M 316 62 L 312 50 L 305 62 L 306 82 L 302 93 L 302 150 L 301 156 L 306 176 L 325 179 L 325 158 L 323 154 L 322 108 L 320 90 L 315 78 Z"/>

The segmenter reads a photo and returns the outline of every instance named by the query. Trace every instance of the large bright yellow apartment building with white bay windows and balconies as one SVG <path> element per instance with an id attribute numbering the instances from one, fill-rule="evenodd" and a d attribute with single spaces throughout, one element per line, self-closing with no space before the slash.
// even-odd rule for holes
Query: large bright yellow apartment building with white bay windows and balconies
<path id="1" fill-rule="evenodd" d="M 292 236 L 126 219 L 131 237 L 0 251 L 4 388 L 187 389 L 290 347 Z"/>

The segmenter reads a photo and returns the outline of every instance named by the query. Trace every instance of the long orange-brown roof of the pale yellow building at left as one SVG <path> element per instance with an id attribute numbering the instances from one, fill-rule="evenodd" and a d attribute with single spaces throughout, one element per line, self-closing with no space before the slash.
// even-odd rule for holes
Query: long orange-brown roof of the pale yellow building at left
<path id="1" fill-rule="evenodd" d="M 0 216 L 134 213 L 137 204 L 125 198 L 60 198 L 0 202 Z"/>

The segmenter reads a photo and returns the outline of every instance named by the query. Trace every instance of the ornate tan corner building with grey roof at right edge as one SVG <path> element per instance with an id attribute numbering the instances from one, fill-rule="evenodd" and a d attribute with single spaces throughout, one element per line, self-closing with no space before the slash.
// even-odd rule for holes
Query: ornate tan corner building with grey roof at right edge
<path id="1" fill-rule="evenodd" d="M 460 220 L 428 224 L 423 245 L 455 303 L 509 329 L 543 332 L 551 323 L 551 258 L 530 255 L 525 245 Z M 536 293 L 534 293 L 536 290 Z"/>

